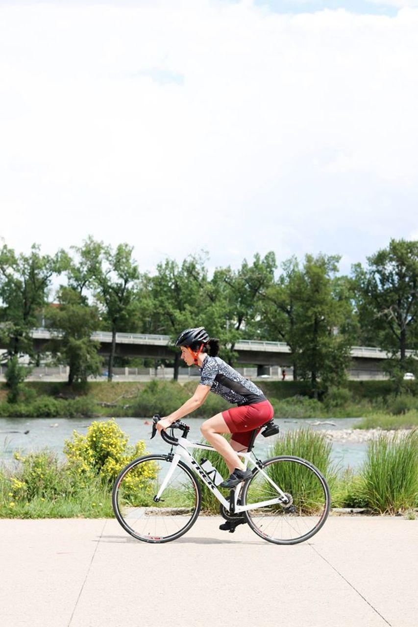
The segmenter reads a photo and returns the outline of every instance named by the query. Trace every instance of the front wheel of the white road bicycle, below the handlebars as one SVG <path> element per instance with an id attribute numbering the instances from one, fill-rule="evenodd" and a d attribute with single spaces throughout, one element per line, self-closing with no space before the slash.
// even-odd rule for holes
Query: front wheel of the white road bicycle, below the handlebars
<path id="1" fill-rule="evenodd" d="M 190 529 L 199 514 L 198 485 L 193 473 L 181 463 L 161 500 L 154 502 L 170 466 L 165 456 L 141 458 L 127 466 L 115 482 L 113 506 L 117 520 L 139 540 L 174 540 Z"/>

